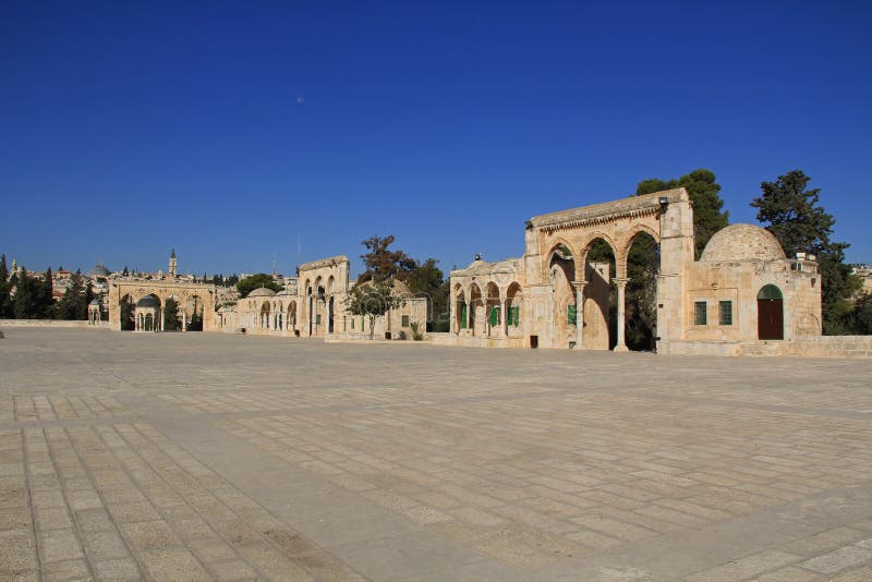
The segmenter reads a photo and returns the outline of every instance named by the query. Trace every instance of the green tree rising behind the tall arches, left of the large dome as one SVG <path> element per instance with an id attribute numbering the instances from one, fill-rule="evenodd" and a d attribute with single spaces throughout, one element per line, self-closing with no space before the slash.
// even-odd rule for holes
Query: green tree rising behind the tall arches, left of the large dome
<path id="1" fill-rule="evenodd" d="M 641 196 L 675 187 L 688 191 L 688 196 L 693 203 L 693 235 L 699 258 L 714 233 L 729 222 L 729 214 L 726 210 L 722 211 L 724 201 L 720 199 L 720 184 L 715 180 L 714 172 L 700 168 L 668 182 L 657 178 L 642 180 L 635 189 L 635 194 Z"/>

